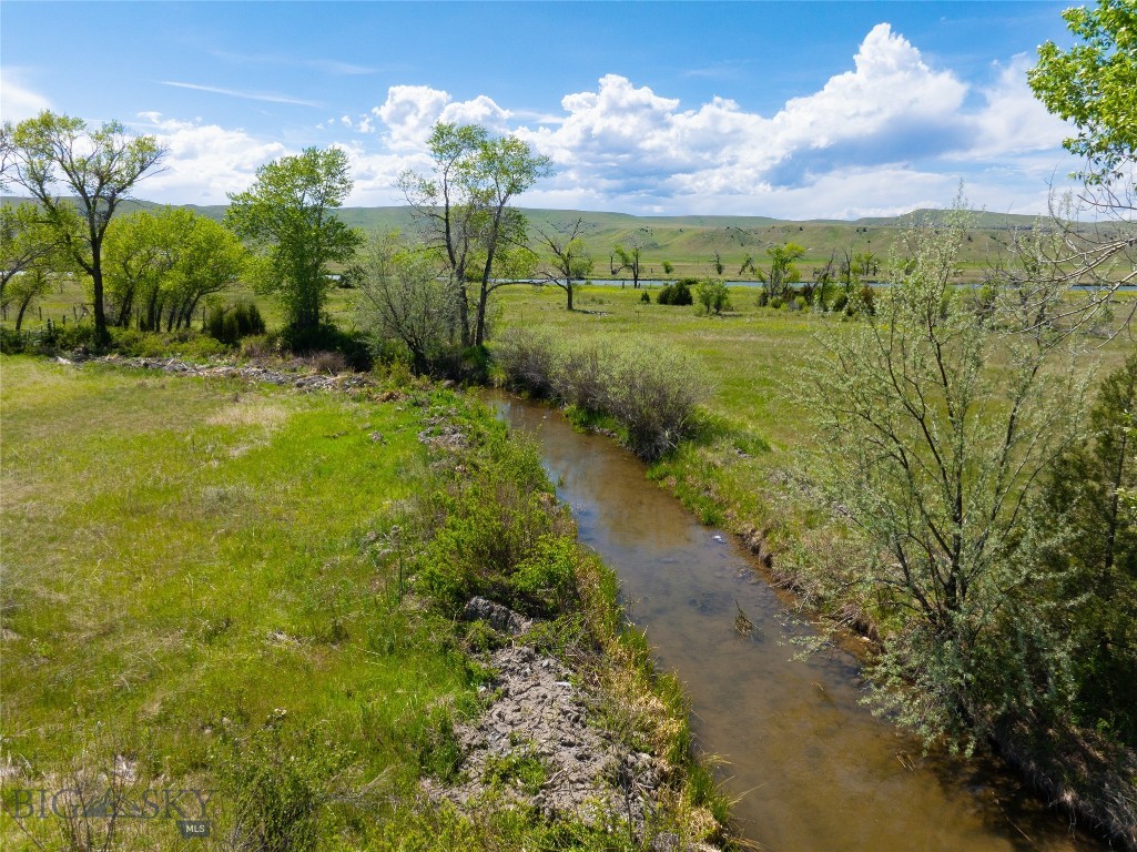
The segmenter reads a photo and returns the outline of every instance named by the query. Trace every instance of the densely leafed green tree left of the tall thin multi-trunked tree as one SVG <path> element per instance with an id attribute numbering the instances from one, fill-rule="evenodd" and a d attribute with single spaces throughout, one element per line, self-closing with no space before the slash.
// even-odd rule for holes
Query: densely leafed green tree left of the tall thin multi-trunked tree
<path id="1" fill-rule="evenodd" d="M 334 213 L 350 192 L 347 152 L 306 148 L 260 166 L 251 188 L 230 195 L 225 222 L 258 253 L 257 286 L 280 298 L 300 338 L 323 320 L 330 265 L 350 262 L 363 241 Z"/>

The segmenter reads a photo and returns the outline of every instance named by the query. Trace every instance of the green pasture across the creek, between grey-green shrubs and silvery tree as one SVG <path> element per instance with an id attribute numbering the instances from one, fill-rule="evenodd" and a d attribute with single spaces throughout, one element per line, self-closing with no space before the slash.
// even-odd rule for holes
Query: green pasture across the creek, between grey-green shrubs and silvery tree
<path id="1" fill-rule="evenodd" d="M 695 439 L 649 469 L 649 475 L 674 493 L 704 522 L 733 531 L 765 530 L 771 545 L 789 545 L 816 519 L 794 487 L 795 455 L 816 445 L 811 416 L 795 399 L 797 375 L 816 336 L 840 315 L 787 308 L 760 308 L 756 288 L 732 288 L 732 311 L 700 316 L 694 307 L 656 305 L 658 288 L 642 290 L 581 287 L 575 311 L 565 311 L 555 288 L 509 287 L 498 291 L 500 325 L 547 326 L 564 339 L 575 336 L 619 338 L 647 334 L 695 354 L 706 367 L 711 395 Z M 1122 295 L 1120 319 L 1134 296 Z M 492 344 L 491 344 L 492 346 Z M 1099 347 L 1087 369 L 1098 375 L 1119 366 L 1131 340 L 1121 336 Z M 766 452 L 772 449 L 773 452 Z"/>

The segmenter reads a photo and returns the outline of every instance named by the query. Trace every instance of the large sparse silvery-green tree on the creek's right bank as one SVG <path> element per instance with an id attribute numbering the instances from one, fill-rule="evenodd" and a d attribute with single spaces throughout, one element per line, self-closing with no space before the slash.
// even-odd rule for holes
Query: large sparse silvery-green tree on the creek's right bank
<path id="1" fill-rule="evenodd" d="M 1026 298 L 995 275 L 987 299 L 953 287 L 966 231 L 961 200 L 906 234 L 875 316 L 821 336 L 804 394 L 827 437 L 825 488 L 874 555 L 849 581 L 894 628 L 874 697 L 965 745 L 1069 693 L 1064 646 L 1032 609 L 1045 531 L 1031 499 L 1078 438 L 1088 381 L 1070 284 L 1043 275 Z"/>

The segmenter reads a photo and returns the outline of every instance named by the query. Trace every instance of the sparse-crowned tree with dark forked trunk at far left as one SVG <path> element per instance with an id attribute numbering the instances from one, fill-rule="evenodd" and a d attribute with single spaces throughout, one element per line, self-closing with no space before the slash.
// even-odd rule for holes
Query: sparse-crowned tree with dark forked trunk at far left
<path id="1" fill-rule="evenodd" d="M 6 131 L 6 183 L 22 187 L 39 205 L 70 262 L 91 279 L 98 345 L 109 339 L 103 306 L 102 245 L 118 205 L 166 151 L 153 137 L 134 137 L 118 122 L 97 130 L 51 111 Z M 67 196 L 56 193 L 63 189 Z"/>

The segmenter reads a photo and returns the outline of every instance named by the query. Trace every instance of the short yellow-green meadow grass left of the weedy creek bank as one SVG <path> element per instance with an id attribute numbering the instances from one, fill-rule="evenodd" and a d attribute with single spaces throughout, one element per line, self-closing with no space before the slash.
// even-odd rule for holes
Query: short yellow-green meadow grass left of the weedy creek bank
<path id="1" fill-rule="evenodd" d="M 367 544 L 424 481 L 418 410 L 0 363 L 5 762 L 209 777 L 284 711 L 406 793 L 408 731 L 478 680 Z"/>

